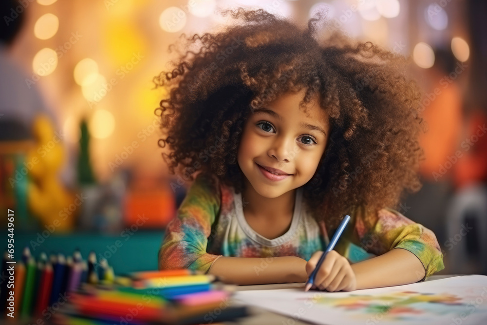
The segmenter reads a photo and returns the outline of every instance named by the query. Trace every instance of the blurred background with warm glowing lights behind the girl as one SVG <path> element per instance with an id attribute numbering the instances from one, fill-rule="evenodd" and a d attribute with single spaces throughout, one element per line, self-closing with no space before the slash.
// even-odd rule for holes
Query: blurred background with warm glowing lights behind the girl
<path id="1" fill-rule="evenodd" d="M 216 30 L 227 21 L 217 9 L 238 6 L 300 23 L 325 11 L 334 22 L 322 35 L 340 29 L 412 58 L 428 123 L 424 185 L 398 210 L 435 232 L 441 273 L 487 274 L 480 0 L 2 1 L 0 220 L 6 232 L 15 211 L 17 256 L 24 246 L 34 256 L 79 248 L 116 273 L 157 268 L 190 184 L 162 159 L 154 109 L 167 90 L 152 79 L 176 58 L 168 49 L 182 33 Z"/>

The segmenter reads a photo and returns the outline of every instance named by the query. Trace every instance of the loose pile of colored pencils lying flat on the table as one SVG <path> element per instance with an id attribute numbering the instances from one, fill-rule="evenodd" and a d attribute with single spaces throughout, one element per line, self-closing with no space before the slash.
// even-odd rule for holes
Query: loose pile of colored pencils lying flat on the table
<path id="1" fill-rule="evenodd" d="M 83 285 L 54 317 L 56 324 L 201 324 L 248 315 L 232 306 L 236 286 L 187 269 L 131 273 L 112 286 Z"/>

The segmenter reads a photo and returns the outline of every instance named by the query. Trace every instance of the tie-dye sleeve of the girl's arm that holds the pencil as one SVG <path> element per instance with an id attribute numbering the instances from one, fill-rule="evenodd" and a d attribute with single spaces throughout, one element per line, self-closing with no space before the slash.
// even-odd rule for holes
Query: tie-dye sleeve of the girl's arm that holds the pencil
<path id="1" fill-rule="evenodd" d="M 365 251 L 382 255 L 395 248 L 409 250 L 425 268 L 426 274 L 420 281 L 445 268 L 436 236 L 423 225 L 390 208 L 372 216 L 362 207 L 356 210 L 355 217 L 353 237 Z"/>

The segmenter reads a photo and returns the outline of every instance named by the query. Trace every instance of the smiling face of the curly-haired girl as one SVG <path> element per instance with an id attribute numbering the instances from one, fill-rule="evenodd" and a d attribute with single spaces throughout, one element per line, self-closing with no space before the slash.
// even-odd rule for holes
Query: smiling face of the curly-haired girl
<path id="1" fill-rule="evenodd" d="M 304 91 L 285 94 L 245 122 L 237 161 L 246 183 L 264 197 L 275 198 L 306 184 L 325 152 L 328 114 L 316 101 L 308 104 L 306 113 L 300 110 L 303 98 Z M 265 170 L 271 168 L 279 175 Z"/>

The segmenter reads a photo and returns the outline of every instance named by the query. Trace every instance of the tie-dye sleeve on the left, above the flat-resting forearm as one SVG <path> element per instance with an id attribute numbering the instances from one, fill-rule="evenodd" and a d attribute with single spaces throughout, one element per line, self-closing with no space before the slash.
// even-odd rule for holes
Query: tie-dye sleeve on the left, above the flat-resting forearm
<path id="1" fill-rule="evenodd" d="M 211 226 L 220 212 L 220 193 L 202 174 L 196 176 L 177 216 L 165 230 L 159 269 L 188 268 L 205 273 L 222 255 L 206 253 Z"/>

